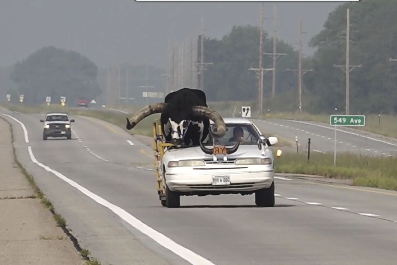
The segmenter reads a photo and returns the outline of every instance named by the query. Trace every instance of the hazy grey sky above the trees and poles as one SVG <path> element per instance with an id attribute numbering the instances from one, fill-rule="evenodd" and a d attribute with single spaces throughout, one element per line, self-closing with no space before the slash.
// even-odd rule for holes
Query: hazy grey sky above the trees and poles
<path id="1" fill-rule="evenodd" d="M 167 37 L 200 33 L 220 38 L 233 25 L 258 25 L 260 2 L 136 2 L 134 0 L 0 0 L 0 66 L 22 60 L 43 46 L 76 50 L 99 67 L 129 62 L 164 66 Z M 303 53 L 328 14 L 343 2 L 278 2 L 278 35 L 298 41 L 302 17 Z M 272 27 L 274 2 L 264 2 L 265 30 Z M 294 44 L 297 47 L 296 44 Z"/>

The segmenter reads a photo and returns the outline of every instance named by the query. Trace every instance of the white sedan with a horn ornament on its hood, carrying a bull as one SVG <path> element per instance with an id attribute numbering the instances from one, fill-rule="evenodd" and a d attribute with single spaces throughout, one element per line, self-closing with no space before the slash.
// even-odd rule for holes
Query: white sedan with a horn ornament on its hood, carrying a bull
<path id="1" fill-rule="evenodd" d="M 248 119 L 224 118 L 224 122 L 226 134 L 217 139 L 217 146 L 235 146 L 237 140 L 233 141 L 233 132 L 243 132 L 240 145 L 234 153 L 204 153 L 203 148 L 213 150 L 210 135 L 203 147 L 172 148 L 164 152 L 159 163 L 161 168 L 158 168 L 160 178 L 165 178 L 166 184 L 166 198 L 162 205 L 179 207 L 181 195 L 255 193 L 256 205 L 274 206 L 274 156 L 268 147 L 278 142 L 277 137 L 262 135 Z"/>

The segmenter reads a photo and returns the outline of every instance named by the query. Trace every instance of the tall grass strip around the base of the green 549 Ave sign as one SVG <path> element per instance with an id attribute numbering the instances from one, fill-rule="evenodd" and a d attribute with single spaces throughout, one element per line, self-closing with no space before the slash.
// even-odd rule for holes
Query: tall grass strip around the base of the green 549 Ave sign
<path id="1" fill-rule="evenodd" d="M 397 159 L 338 153 L 333 166 L 333 153 L 313 153 L 310 162 L 307 154 L 283 153 L 277 158 L 278 173 L 296 173 L 326 176 L 328 178 L 352 179 L 355 186 L 368 186 L 397 190 Z"/>

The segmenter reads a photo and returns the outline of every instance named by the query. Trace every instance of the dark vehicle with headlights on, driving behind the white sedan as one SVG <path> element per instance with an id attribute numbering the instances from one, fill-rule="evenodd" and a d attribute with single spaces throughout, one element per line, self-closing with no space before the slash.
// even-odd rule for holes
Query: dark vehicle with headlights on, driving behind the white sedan
<path id="1" fill-rule="evenodd" d="M 70 123 L 74 120 L 69 120 L 66 113 L 47 113 L 44 122 L 43 140 L 47 137 L 66 137 L 71 139 Z"/>

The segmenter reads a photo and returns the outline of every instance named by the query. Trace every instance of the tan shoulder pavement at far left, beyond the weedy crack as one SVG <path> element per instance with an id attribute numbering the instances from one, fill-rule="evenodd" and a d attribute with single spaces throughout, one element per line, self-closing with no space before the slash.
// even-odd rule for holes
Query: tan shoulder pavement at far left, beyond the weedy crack
<path id="1" fill-rule="evenodd" d="M 2 118 L 0 168 L 0 264 L 84 264 L 15 163 L 10 125 Z"/>

